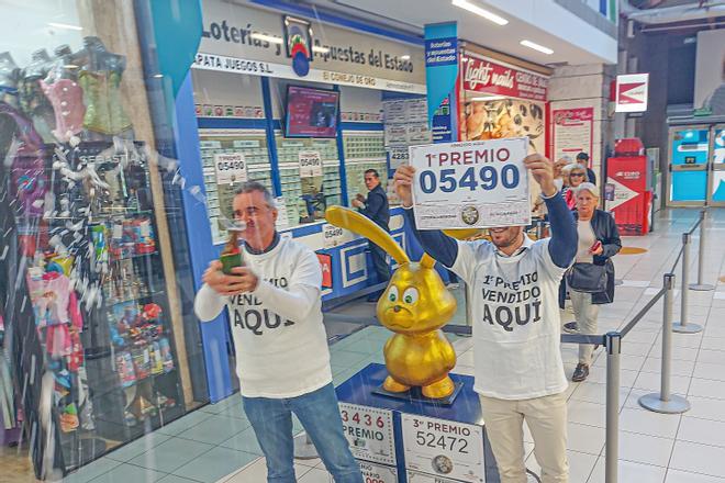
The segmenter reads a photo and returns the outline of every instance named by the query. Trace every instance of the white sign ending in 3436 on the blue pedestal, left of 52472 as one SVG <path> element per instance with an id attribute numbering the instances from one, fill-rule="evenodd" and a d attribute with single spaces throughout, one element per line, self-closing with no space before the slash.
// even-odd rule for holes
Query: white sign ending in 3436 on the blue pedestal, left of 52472
<path id="1" fill-rule="evenodd" d="M 358 460 L 395 465 L 392 412 L 357 404 L 339 403 L 345 437 Z"/>

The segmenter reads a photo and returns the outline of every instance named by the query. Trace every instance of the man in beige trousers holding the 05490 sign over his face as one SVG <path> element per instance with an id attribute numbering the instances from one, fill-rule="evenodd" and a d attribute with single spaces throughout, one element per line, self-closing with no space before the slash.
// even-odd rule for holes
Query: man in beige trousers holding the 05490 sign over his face
<path id="1" fill-rule="evenodd" d="M 438 145 L 442 150 L 426 153 L 435 155 L 427 167 L 401 166 L 394 176 L 395 191 L 425 251 L 471 288 L 473 390 L 481 401 L 501 482 L 526 481 L 524 420 L 534 438 L 543 482 L 568 482 L 565 395 L 568 383 L 559 348 L 558 288 L 577 254 L 577 227 L 554 183 L 550 160 L 540 155 L 525 156 L 521 150 L 497 153 L 486 145 L 476 146 L 473 151 L 468 149 L 471 154 L 457 150 L 473 144 L 479 143 Z M 458 155 L 454 156 L 455 153 Z M 434 168 L 435 162 L 444 166 L 443 169 Z M 461 167 L 466 169 L 461 171 Z M 473 169 L 469 171 L 469 167 Z M 494 193 L 500 186 L 516 191 L 516 183 L 526 183 L 528 175 L 542 189 L 551 238 L 533 242 L 524 233 L 523 212 L 531 211 L 528 198 L 526 205 L 520 206 L 515 194 Z M 464 222 L 469 227 L 489 226 L 491 242 L 458 242 L 439 229 L 416 225 L 419 221 L 422 224 L 433 221 L 435 225 L 443 220 L 443 226 L 438 227 L 461 226 L 453 216 L 438 216 L 435 221 L 437 212 L 419 204 L 422 201 L 419 193 L 423 192 L 423 202 L 427 200 L 425 191 L 439 196 L 440 212 L 445 211 L 446 201 L 438 192 L 448 193 L 454 203 L 465 199 L 477 210 L 493 206 L 488 212 L 479 211 L 476 223 Z M 511 196 L 509 214 L 497 206 L 506 196 Z M 450 207 L 448 212 L 458 215 Z M 492 215 L 493 220 L 486 220 L 481 213 Z M 471 211 L 469 216 L 476 215 Z"/>

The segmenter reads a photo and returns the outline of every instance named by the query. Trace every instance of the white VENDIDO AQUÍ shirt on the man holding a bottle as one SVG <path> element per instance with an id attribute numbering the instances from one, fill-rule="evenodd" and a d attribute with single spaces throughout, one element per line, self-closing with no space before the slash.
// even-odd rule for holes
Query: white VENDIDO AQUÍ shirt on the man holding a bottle
<path id="1" fill-rule="evenodd" d="M 194 302 L 202 321 L 227 307 L 242 395 L 297 397 L 330 384 L 322 270 L 315 254 L 282 238 L 265 254 L 245 250 L 244 262 L 259 277 L 257 290 L 224 297 L 204 284 Z"/>

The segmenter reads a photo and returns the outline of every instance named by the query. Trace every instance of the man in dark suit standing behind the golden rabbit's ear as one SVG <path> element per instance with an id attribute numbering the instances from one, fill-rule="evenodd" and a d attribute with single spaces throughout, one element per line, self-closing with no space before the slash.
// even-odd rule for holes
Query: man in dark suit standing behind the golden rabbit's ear
<path id="1" fill-rule="evenodd" d="M 360 213 L 372 220 L 376 225 L 390 233 L 390 228 L 388 227 L 388 223 L 390 223 L 388 194 L 386 193 L 386 190 L 382 189 L 382 184 L 380 184 L 380 175 L 377 170 L 368 169 L 365 171 L 365 186 L 368 189 L 367 198 L 358 193 L 355 200 L 353 200 L 353 206 L 357 207 Z M 378 283 L 387 282 L 390 280 L 390 268 L 388 266 L 386 251 L 369 240 L 368 247 L 370 248 L 370 256 L 372 257 L 372 266 L 378 274 Z M 368 301 L 377 301 L 378 295 L 379 293 L 371 295 L 368 297 Z"/>

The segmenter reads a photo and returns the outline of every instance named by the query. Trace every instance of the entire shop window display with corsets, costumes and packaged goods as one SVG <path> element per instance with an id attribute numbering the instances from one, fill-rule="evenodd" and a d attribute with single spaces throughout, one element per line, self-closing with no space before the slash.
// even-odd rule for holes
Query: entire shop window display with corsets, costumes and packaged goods
<path id="1" fill-rule="evenodd" d="M 0 154 L 9 160 L 0 428 L 27 417 L 38 479 L 185 412 L 148 160 L 143 143 L 127 139 L 125 58 L 97 37 L 54 54 L 37 50 L 24 68 L 0 54 Z M 16 382 L 29 375 L 44 384 L 20 401 Z"/>

